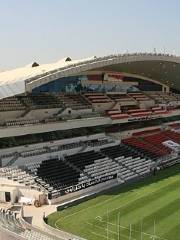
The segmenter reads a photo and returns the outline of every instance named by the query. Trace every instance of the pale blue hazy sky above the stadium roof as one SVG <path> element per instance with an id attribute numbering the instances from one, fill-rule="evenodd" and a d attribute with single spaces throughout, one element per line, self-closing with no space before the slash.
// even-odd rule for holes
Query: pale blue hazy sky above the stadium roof
<path id="1" fill-rule="evenodd" d="M 0 0 L 0 70 L 126 52 L 180 55 L 179 0 Z"/>

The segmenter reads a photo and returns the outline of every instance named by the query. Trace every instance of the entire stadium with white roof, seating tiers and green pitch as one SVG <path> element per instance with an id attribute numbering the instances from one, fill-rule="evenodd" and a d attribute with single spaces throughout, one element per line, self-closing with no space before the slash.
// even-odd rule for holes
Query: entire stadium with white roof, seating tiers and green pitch
<path id="1" fill-rule="evenodd" d="M 157 53 L 0 72 L 0 231 L 179 240 L 179 78 Z"/>

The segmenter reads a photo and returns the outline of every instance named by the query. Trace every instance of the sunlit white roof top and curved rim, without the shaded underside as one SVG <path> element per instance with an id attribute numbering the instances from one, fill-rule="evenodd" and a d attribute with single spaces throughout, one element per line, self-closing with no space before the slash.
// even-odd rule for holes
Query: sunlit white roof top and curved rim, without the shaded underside
<path id="1" fill-rule="evenodd" d="M 113 64 L 154 60 L 180 63 L 180 58 L 176 56 L 147 53 L 119 54 L 71 61 L 66 61 L 66 59 L 64 58 L 55 63 L 43 64 L 37 67 L 32 67 L 32 64 L 29 64 L 22 68 L 0 72 L 0 98 L 31 91 L 35 87 L 60 77 Z"/>

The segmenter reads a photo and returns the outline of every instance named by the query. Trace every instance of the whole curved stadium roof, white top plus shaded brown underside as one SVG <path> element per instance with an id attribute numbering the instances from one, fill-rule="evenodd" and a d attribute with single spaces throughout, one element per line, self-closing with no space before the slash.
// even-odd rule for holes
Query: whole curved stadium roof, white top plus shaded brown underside
<path id="1" fill-rule="evenodd" d="M 64 58 L 52 64 L 34 62 L 22 68 L 0 72 L 0 98 L 31 91 L 61 77 L 90 70 L 137 74 L 180 90 L 180 57 L 168 54 L 119 54 L 81 60 Z"/>

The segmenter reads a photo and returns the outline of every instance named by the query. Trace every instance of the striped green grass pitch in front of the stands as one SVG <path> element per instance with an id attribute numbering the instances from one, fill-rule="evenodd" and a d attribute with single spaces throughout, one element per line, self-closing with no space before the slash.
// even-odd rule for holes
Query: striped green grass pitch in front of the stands
<path id="1" fill-rule="evenodd" d="M 47 221 L 88 240 L 180 240 L 180 165 L 53 213 Z"/>

